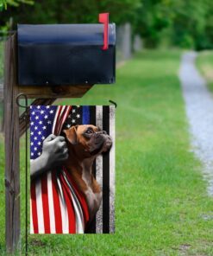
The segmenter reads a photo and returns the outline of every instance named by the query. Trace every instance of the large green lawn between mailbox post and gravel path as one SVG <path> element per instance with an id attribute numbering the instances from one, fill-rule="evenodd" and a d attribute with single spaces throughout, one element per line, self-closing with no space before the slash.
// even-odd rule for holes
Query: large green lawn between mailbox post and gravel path
<path id="1" fill-rule="evenodd" d="M 190 151 L 179 58 L 178 51 L 144 51 L 117 70 L 115 86 L 59 101 L 104 105 L 112 99 L 118 105 L 116 234 L 30 235 L 29 255 L 213 255 L 213 200 Z M 2 143 L 0 157 L 3 170 Z M 2 171 L 1 181 L 3 207 Z M 3 216 L 2 208 L 1 230 Z"/>

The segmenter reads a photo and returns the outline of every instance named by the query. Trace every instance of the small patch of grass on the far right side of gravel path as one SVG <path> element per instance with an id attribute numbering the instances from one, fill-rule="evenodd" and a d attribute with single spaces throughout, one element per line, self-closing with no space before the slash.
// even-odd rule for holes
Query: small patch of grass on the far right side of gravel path
<path id="1" fill-rule="evenodd" d="M 197 67 L 204 75 L 213 93 L 213 51 L 204 51 L 197 57 Z"/>

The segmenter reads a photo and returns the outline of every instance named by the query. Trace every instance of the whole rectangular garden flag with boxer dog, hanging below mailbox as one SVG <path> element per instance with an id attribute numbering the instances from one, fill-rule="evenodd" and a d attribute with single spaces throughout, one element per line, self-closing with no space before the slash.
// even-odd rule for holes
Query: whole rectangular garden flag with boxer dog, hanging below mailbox
<path id="1" fill-rule="evenodd" d="M 30 234 L 115 232 L 115 106 L 30 106 L 30 159 Z"/>

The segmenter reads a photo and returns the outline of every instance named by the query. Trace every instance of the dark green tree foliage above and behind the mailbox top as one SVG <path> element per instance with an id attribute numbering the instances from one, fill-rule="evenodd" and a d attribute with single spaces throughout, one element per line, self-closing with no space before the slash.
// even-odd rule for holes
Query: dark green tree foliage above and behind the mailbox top
<path id="1" fill-rule="evenodd" d="M 110 20 L 120 24 L 135 19 L 135 10 L 141 0 L 46 0 L 19 8 L 9 7 L 3 12 L 1 22 L 13 16 L 14 23 L 82 23 L 97 22 L 98 13 L 110 12 Z"/>

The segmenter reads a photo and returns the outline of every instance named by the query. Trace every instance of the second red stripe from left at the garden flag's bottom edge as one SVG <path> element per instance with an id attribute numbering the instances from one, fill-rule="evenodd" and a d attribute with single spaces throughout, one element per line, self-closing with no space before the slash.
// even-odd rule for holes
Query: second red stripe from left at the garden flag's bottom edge
<path id="1" fill-rule="evenodd" d="M 41 195 L 42 195 L 42 203 L 43 203 L 44 230 L 45 230 L 45 234 L 50 234 L 47 174 L 43 175 L 41 178 Z"/>

